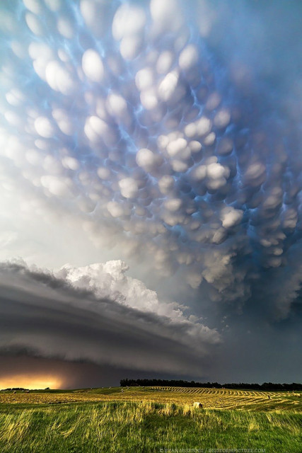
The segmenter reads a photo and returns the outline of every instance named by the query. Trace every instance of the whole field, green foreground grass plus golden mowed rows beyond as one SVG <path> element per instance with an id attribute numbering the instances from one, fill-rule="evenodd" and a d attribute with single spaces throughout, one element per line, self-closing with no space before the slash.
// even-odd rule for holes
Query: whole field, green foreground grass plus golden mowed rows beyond
<path id="1" fill-rule="evenodd" d="M 0 392 L 1 453 L 190 449 L 301 453 L 300 394 L 180 387 Z"/>

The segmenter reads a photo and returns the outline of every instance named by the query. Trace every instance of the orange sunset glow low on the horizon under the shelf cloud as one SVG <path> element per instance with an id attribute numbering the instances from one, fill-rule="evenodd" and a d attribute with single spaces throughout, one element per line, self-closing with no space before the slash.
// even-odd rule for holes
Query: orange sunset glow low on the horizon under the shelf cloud
<path id="1" fill-rule="evenodd" d="M 16 374 L 14 376 L 0 377 L 0 389 L 60 389 L 62 386 L 62 379 L 50 374 L 41 374 L 40 376 L 31 374 Z"/>

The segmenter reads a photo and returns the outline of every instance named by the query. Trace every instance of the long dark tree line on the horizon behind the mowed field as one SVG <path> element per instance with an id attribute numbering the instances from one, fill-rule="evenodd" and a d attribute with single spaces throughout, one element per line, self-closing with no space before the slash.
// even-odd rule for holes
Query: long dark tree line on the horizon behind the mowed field
<path id="1" fill-rule="evenodd" d="M 231 384 L 219 384 L 218 382 L 195 382 L 176 379 L 121 379 L 120 386 L 168 386 L 168 387 L 206 387 L 208 389 L 248 389 L 248 390 L 302 390 L 302 384 L 247 384 L 246 382 L 232 382 Z"/>

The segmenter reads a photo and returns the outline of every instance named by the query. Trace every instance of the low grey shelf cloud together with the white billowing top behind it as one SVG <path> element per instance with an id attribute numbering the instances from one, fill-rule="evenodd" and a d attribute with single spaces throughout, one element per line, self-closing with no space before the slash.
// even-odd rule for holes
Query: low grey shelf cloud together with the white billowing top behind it
<path id="1" fill-rule="evenodd" d="M 1 353 L 204 375 L 219 333 L 178 304 L 160 304 L 125 270 L 122 262 L 57 273 L 2 263 Z"/>

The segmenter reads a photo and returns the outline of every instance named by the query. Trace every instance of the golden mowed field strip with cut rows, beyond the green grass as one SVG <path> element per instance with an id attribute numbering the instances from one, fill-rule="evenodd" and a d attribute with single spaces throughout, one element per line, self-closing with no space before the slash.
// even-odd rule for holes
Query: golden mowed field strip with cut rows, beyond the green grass
<path id="1" fill-rule="evenodd" d="M 59 404 L 85 401 L 150 401 L 158 403 L 202 403 L 207 409 L 244 409 L 256 411 L 302 411 L 298 392 L 244 391 L 233 389 L 202 389 L 187 387 L 115 387 L 83 389 L 66 392 L 1 391 L 0 403 Z"/>

